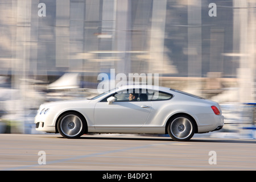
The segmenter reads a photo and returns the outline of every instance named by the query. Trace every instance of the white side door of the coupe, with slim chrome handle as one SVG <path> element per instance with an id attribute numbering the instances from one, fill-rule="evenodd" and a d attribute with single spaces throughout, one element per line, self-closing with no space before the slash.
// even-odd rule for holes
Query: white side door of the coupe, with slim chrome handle
<path id="1" fill-rule="evenodd" d="M 125 133 L 146 123 L 151 111 L 151 101 L 129 101 L 129 93 L 115 93 L 112 104 L 106 98 L 94 108 L 94 127 L 98 132 Z M 129 131 L 128 131 L 129 130 Z"/>

